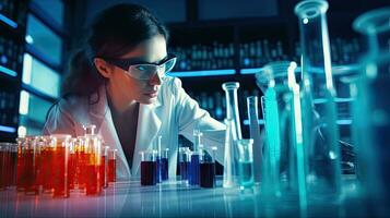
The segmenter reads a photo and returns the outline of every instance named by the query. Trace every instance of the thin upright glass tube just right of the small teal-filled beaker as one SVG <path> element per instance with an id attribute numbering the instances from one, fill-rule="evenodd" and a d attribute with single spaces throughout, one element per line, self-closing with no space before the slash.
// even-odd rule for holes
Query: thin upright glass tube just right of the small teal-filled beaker
<path id="1" fill-rule="evenodd" d="M 247 108 L 249 117 L 249 133 L 250 137 L 253 138 L 253 178 L 256 183 L 260 183 L 262 167 L 262 140 L 260 136 L 257 96 L 247 97 Z"/>

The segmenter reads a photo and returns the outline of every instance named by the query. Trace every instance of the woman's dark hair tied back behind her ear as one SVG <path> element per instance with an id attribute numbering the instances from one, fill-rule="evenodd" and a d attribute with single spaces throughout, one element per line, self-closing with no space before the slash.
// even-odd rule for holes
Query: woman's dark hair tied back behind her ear
<path id="1" fill-rule="evenodd" d="M 129 3 L 102 11 L 90 32 L 84 48 L 70 59 L 68 76 L 61 87 L 62 97 L 98 94 L 106 78 L 97 72 L 94 58 L 119 58 L 156 35 L 168 40 L 166 27 L 146 8 Z"/>

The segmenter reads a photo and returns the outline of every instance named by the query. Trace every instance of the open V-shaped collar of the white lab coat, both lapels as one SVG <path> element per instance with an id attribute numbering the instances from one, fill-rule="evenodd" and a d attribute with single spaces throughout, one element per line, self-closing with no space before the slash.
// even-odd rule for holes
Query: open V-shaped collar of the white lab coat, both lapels
<path id="1" fill-rule="evenodd" d="M 91 97 L 91 100 L 97 100 L 97 95 Z M 137 138 L 135 138 L 135 148 L 132 160 L 131 174 L 135 175 L 139 173 L 141 155 L 140 152 L 146 149 L 153 149 L 154 138 L 157 136 L 157 133 L 161 129 L 161 113 L 162 113 L 162 94 L 158 94 L 158 97 L 155 102 L 151 105 L 140 104 L 139 117 L 138 117 L 138 126 L 137 126 Z M 127 162 L 123 149 L 121 147 L 117 131 L 114 125 L 113 117 L 110 109 L 108 107 L 106 88 L 102 86 L 99 88 L 99 99 L 96 104 L 90 107 L 91 120 L 99 120 L 96 122 L 97 130 L 103 135 L 105 142 L 110 147 L 116 147 L 118 149 L 118 158 L 121 162 L 125 164 L 125 169 L 127 172 L 130 171 L 129 165 Z M 125 170 L 123 169 L 123 170 Z"/>

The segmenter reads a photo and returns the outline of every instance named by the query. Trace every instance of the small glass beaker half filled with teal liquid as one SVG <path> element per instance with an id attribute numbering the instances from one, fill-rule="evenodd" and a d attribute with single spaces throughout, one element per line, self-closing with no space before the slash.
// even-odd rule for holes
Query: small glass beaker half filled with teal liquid
<path id="1" fill-rule="evenodd" d="M 253 179 L 253 140 L 238 140 L 238 174 L 240 189 L 252 187 Z"/>

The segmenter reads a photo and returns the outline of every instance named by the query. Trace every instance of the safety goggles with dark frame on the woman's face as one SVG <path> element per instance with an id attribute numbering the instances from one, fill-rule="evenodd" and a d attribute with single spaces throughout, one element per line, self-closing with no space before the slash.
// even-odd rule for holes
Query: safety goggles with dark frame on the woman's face
<path id="1" fill-rule="evenodd" d="M 140 62 L 134 59 L 104 59 L 110 64 L 114 64 L 130 76 L 138 80 L 150 80 L 155 74 L 161 78 L 166 76 L 166 73 L 174 69 L 176 63 L 176 56 L 169 53 L 164 60 L 158 63 Z"/>

